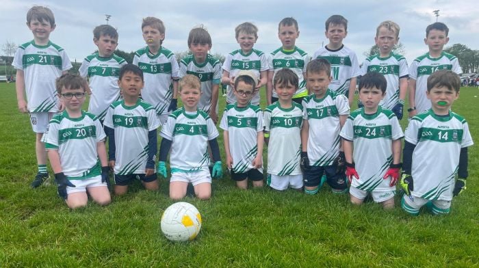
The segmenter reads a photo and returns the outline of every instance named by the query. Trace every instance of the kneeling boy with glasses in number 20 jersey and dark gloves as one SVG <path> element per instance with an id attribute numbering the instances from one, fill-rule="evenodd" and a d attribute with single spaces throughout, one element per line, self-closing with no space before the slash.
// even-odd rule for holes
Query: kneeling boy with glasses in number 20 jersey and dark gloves
<path id="1" fill-rule="evenodd" d="M 57 79 L 57 92 L 65 107 L 50 121 L 44 135 L 58 195 L 70 209 L 86 206 L 88 195 L 98 204 L 109 204 L 105 133 L 94 115 L 81 110 L 85 79 L 66 74 Z"/>

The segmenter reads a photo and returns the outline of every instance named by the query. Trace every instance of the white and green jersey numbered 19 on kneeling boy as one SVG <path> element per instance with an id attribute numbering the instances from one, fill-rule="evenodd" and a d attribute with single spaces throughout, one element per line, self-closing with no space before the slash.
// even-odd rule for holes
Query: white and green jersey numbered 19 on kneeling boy
<path id="1" fill-rule="evenodd" d="M 115 133 L 115 174 L 145 174 L 148 132 L 160 126 L 155 108 L 142 99 L 134 106 L 118 100 L 109 105 L 103 124 Z"/>

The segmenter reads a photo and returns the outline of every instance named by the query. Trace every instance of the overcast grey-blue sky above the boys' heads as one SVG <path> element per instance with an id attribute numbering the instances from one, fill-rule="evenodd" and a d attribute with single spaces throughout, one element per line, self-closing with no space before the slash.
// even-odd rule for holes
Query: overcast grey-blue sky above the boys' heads
<path id="1" fill-rule="evenodd" d="M 297 4 L 294 4 L 297 3 Z M 424 44 L 425 29 L 436 21 L 433 10 L 440 10 L 439 21 L 450 28 L 451 44 L 461 43 L 479 49 L 479 4 L 476 0 L 458 1 L 27 1 L 1 0 L 0 44 L 6 40 L 22 44 L 33 38 L 27 28 L 26 14 L 32 5 L 46 5 L 55 14 L 56 29 L 51 41 L 62 46 L 70 59 L 81 60 L 92 53 L 92 30 L 105 24 L 105 14 L 112 15 L 109 24 L 118 29 L 118 49 L 136 51 L 144 46 L 141 23 L 146 16 L 164 21 L 164 46 L 171 51 L 187 50 L 190 29 L 203 24 L 211 34 L 211 53 L 223 55 L 239 48 L 235 40 L 235 27 L 250 21 L 259 28 L 255 48 L 270 53 L 281 46 L 277 36 L 279 21 L 287 16 L 296 18 L 300 36 L 296 45 L 312 55 L 324 42 L 324 21 L 328 16 L 341 14 L 348 19 L 348 36 L 344 44 L 356 52 L 359 62 L 363 53 L 374 45 L 377 25 L 386 20 L 401 27 L 400 41 L 411 62 L 428 50 Z"/>

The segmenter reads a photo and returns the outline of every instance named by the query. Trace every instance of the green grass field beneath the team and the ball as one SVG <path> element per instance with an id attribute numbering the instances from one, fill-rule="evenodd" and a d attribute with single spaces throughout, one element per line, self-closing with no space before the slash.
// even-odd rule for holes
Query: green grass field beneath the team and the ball
<path id="1" fill-rule="evenodd" d="M 447 216 L 410 217 L 399 206 L 386 212 L 372 202 L 352 206 L 327 186 L 315 196 L 241 191 L 225 176 L 213 181 L 211 200 L 185 198 L 203 217 L 196 240 L 171 243 L 159 230 L 172 204 L 168 180 L 158 192 L 135 185 L 109 206 L 77 211 L 67 209 L 53 185 L 30 189 L 34 134 L 17 111 L 14 84 L 0 83 L 0 92 L 0 267 L 479 266 L 477 146 L 469 148 L 467 190 Z M 476 96 L 479 90 L 463 88 L 453 110 L 468 120 L 477 143 Z"/>

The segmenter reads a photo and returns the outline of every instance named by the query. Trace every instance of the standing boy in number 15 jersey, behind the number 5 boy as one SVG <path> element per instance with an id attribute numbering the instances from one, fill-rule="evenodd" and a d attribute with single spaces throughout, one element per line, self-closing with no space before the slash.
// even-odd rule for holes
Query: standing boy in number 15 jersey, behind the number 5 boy
<path id="1" fill-rule="evenodd" d="M 236 42 L 239 48 L 228 55 L 223 63 L 223 85 L 228 85 L 226 90 L 226 103 L 232 104 L 237 100 L 233 90 L 233 83 L 238 72 L 250 70 L 258 81 L 251 104 L 259 105 L 259 90 L 268 81 L 268 56 L 257 49 L 253 49 L 258 40 L 258 28 L 253 23 L 242 23 L 235 28 Z"/>

